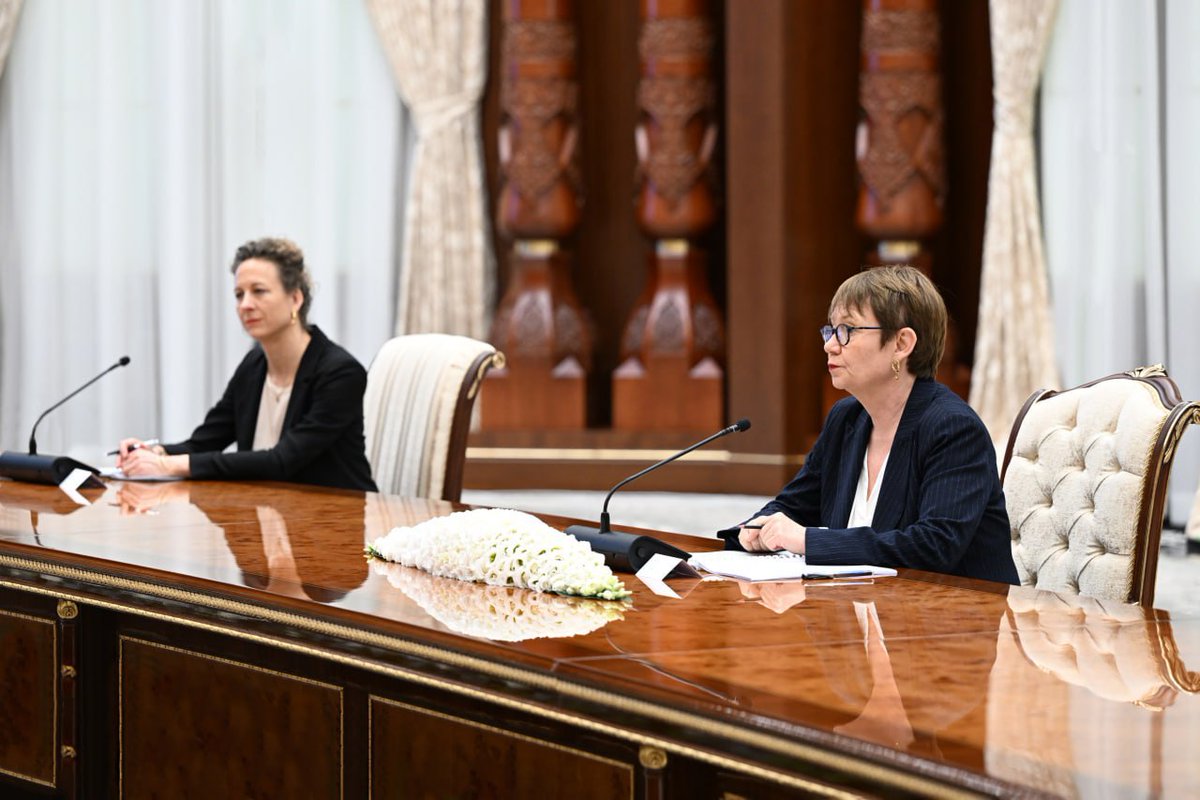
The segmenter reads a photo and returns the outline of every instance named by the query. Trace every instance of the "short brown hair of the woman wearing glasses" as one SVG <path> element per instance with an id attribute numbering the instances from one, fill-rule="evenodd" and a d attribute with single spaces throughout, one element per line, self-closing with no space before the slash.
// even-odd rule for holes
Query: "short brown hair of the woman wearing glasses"
<path id="1" fill-rule="evenodd" d="M 864 269 L 838 288 L 829 302 L 835 309 L 870 308 L 880 321 L 887 344 L 901 327 L 917 332 L 917 344 L 908 356 L 908 372 L 918 378 L 932 378 L 946 349 L 946 303 L 934 282 L 912 266 L 875 266 Z"/>

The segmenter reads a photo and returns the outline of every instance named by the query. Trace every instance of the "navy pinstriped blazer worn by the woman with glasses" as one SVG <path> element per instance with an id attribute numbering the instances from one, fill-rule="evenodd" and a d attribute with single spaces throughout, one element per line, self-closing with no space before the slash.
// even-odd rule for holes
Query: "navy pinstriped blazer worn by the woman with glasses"
<path id="1" fill-rule="evenodd" d="M 874 564 L 1018 583 L 996 450 L 970 405 L 917 380 L 892 443 L 870 528 L 846 528 L 871 417 L 838 402 L 796 477 L 755 516 L 808 527 L 812 564 Z M 824 528 L 824 529 L 822 529 Z"/>

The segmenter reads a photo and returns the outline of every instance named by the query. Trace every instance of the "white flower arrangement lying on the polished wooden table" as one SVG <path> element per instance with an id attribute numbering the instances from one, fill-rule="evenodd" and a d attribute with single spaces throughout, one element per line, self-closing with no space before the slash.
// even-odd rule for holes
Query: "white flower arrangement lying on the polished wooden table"
<path id="1" fill-rule="evenodd" d="M 587 542 L 510 509 L 476 509 L 394 528 L 367 555 L 426 572 L 494 587 L 517 587 L 601 600 L 630 596 Z"/>

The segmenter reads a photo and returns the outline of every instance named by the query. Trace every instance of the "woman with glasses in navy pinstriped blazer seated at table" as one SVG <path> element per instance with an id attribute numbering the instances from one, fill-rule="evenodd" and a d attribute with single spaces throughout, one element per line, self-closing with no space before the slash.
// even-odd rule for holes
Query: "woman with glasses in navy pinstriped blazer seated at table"
<path id="1" fill-rule="evenodd" d="M 996 451 L 934 380 L 946 305 L 911 266 L 847 279 L 821 327 L 838 402 L 804 467 L 745 523 L 748 551 L 1016 583 Z"/>

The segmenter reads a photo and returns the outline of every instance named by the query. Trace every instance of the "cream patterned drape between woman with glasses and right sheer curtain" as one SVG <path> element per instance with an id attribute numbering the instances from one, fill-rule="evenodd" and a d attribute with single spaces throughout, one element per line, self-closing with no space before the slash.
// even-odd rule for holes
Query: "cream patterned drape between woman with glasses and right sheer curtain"
<path id="1" fill-rule="evenodd" d="M 1058 383 L 1042 248 L 1033 104 L 1057 0 L 991 0 L 995 132 L 971 404 L 997 452 L 1025 398 Z"/>

